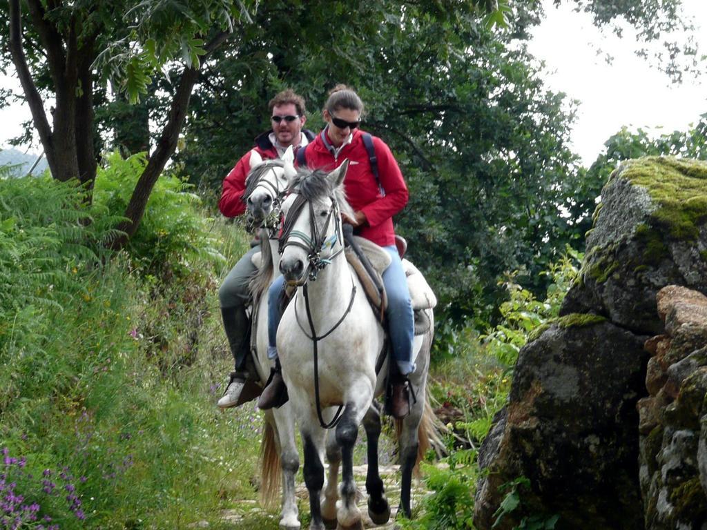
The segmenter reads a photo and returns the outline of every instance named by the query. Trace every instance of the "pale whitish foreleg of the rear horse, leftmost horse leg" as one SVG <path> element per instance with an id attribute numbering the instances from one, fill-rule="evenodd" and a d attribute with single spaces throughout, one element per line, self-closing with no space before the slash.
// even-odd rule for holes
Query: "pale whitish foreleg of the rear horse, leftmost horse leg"
<path id="1" fill-rule="evenodd" d="M 285 410 L 283 410 L 285 409 Z M 280 440 L 280 464 L 282 468 L 282 511 L 280 528 L 298 530 L 297 497 L 295 496 L 295 475 L 300 467 L 300 459 L 295 444 L 295 424 L 290 407 L 273 409 Z"/>

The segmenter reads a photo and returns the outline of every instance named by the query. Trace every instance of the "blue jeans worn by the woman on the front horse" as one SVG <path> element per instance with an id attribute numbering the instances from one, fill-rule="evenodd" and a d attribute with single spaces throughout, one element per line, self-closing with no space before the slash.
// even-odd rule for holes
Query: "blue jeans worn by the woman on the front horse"
<path id="1" fill-rule="evenodd" d="M 410 293 L 397 248 L 395 245 L 391 245 L 390 247 L 382 247 L 382 249 L 390 254 L 391 257 L 390 266 L 383 271 L 382 277 L 388 298 L 385 316 L 387 317 L 390 331 L 393 359 L 395 359 L 400 373 L 407 375 L 415 370 L 415 365 L 412 363 L 412 341 L 415 334 L 415 324 Z M 277 327 L 282 317 L 279 300 L 284 285 L 285 278 L 280 276 L 270 285 L 268 292 L 268 357 L 271 359 L 277 356 Z"/>

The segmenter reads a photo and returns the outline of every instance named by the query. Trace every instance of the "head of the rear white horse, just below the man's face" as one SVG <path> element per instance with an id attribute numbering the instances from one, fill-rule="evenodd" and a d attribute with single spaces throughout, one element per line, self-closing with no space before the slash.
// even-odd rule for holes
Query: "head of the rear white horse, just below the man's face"
<path id="1" fill-rule="evenodd" d="M 292 147 L 281 160 L 263 160 L 255 150 L 250 153 L 243 199 L 255 223 L 274 229 L 279 223 L 279 207 L 288 189 L 289 179 L 295 174 Z"/>

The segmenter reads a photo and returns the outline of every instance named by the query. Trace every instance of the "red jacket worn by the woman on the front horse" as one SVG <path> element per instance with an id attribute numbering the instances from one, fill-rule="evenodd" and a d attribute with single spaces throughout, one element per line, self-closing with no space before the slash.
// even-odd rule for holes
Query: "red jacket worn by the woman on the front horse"
<path id="1" fill-rule="evenodd" d="M 378 175 L 380 184 L 385 190 L 385 196 L 382 196 L 373 170 L 370 168 L 368 151 L 363 143 L 361 131 L 354 130 L 351 143 L 339 151 L 337 158 L 334 158 L 334 154 L 327 147 L 328 136 L 325 143 L 322 134 L 326 134 L 326 129 L 317 134 L 317 138 L 305 151 L 307 165 L 331 171 L 347 158 L 351 160 L 344 179 L 346 198 L 349 199 L 351 208 L 354 208 L 354 211 L 362 211 L 367 219 L 367 223 L 359 227 L 356 232 L 382 247 L 395 245 L 392 216 L 407 204 L 408 191 L 390 148 L 380 138 L 373 136 L 375 157 L 378 158 Z"/>

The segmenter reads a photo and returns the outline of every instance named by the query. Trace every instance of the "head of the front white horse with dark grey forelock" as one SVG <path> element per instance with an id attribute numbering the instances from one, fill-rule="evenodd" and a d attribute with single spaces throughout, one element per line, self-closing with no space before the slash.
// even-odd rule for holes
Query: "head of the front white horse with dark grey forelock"
<path id="1" fill-rule="evenodd" d="M 327 173 L 300 168 L 283 205 L 285 223 L 280 236 L 280 272 L 287 283 L 303 285 L 344 249 L 341 211 L 353 215 L 344 194 L 349 160 Z"/>

